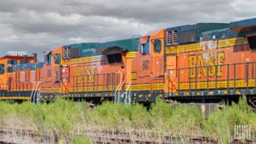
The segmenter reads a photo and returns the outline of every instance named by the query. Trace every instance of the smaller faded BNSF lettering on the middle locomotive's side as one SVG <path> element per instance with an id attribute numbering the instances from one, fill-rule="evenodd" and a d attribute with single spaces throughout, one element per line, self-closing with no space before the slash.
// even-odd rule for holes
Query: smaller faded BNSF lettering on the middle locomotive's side
<path id="1" fill-rule="evenodd" d="M 76 67 L 77 84 L 95 82 L 96 65 L 85 65 Z M 83 75 L 83 76 L 81 76 Z"/>

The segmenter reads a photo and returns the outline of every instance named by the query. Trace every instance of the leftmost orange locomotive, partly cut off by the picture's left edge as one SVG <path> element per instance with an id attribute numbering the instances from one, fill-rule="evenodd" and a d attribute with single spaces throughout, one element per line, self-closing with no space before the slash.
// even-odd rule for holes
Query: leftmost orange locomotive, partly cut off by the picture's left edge
<path id="1" fill-rule="evenodd" d="M 7 52 L 0 58 L 0 99 L 36 101 L 42 65 L 36 54 L 27 56 L 26 52 Z"/>

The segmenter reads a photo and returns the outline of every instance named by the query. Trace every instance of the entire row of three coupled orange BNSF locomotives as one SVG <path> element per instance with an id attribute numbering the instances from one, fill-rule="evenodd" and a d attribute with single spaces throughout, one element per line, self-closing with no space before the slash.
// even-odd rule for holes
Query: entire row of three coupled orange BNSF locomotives
<path id="1" fill-rule="evenodd" d="M 246 96 L 255 107 L 256 18 L 64 45 L 46 52 L 44 63 L 14 55 L 0 59 L 0 99 L 219 103 Z"/>

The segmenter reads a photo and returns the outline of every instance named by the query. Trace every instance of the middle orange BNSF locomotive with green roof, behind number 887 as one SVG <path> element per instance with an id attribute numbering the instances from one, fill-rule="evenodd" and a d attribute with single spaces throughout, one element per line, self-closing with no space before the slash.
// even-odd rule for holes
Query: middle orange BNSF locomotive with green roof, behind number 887
<path id="1" fill-rule="evenodd" d="M 61 46 L 45 54 L 40 101 L 55 98 L 123 101 L 120 91 L 131 79 L 138 38 Z M 118 97 L 118 98 L 117 98 Z M 131 101 L 131 100 L 130 100 Z M 129 102 L 129 101 L 127 101 Z"/>

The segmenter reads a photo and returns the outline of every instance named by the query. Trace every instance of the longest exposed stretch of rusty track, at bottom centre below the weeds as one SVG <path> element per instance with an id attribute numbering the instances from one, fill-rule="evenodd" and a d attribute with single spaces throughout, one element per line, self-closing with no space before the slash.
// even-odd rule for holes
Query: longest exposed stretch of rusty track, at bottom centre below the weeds
<path id="1" fill-rule="evenodd" d="M 178 137 L 171 134 L 159 134 L 156 132 L 96 132 L 86 131 L 86 135 L 91 137 L 96 143 L 217 143 L 217 140 L 207 139 L 207 137 Z M 154 137 L 148 139 L 148 137 Z M 147 137 L 147 139 L 146 139 Z M 185 141 L 184 141 L 185 139 Z"/>

